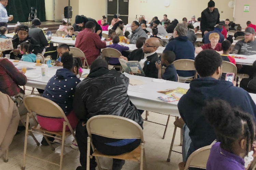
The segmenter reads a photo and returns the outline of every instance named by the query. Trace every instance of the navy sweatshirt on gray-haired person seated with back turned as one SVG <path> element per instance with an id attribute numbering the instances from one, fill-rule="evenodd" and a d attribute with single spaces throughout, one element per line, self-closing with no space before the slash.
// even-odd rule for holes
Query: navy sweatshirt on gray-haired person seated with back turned
<path id="1" fill-rule="evenodd" d="M 165 50 L 163 51 L 173 51 L 175 53 L 175 60 L 180 59 L 191 59 L 195 60 L 195 47 L 188 40 L 186 36 L 180 36 L 174 38 L 173 41 L 170 41 Z M 177 73 L 181 77 L 192 77 L 195 75 L 195 71 L 181 71 L 177 70 Z"/>

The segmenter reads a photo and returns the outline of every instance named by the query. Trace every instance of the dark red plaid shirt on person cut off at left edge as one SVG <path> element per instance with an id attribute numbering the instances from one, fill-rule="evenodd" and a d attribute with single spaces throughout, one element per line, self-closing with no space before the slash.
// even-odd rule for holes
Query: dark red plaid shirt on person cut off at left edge
<path id="1" fill-rule="evenodd" d="M 14 96 L 24 91 L 19 86 L 27 83 L 26 76 L 14 67 L 7 59 L 0 59 L 0 91 L 9 96 Z"/>

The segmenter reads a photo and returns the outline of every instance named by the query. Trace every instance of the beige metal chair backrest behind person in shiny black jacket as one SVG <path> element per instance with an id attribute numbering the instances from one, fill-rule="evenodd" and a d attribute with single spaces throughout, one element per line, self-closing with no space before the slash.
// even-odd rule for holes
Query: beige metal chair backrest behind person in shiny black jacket
<path id="1" fill-rule="evenodd" d="M 114 115 L 99 115 L 91 117 L 86 128 L 91 134 L 114 139 L 141 139 L 144 142 L 141 126 L 131 119 Z"/>

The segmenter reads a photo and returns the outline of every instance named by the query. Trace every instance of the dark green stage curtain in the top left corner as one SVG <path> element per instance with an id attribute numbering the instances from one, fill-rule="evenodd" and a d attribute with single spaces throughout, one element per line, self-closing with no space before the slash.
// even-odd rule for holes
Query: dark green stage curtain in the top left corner
<path id="1" fill-rule="evenodd" d="M 31 7 L 37 8 L 37 17 L 43 22 L 45 21 L 45 1 L 44 0 L 9 0 L 6 10 L 9 15 L 13 15 L 14 19 L 8 23 L 28 22 L 28 16 Z"/>

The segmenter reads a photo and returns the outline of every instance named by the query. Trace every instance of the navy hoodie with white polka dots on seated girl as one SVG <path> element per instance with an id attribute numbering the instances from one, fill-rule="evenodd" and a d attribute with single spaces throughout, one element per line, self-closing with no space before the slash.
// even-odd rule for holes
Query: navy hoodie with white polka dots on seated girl
<path id="1" fill-rule="evenodd" d="M 65 115 L 68 116 L 73 110 L 75 87 L 80 82 L 81 80 L 70 70 L 66 68 L 58 69 L 56 74 L 48 81 L 43 97 L 57 103 Z"/>

